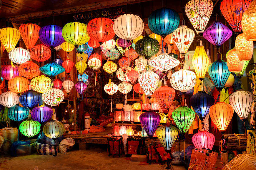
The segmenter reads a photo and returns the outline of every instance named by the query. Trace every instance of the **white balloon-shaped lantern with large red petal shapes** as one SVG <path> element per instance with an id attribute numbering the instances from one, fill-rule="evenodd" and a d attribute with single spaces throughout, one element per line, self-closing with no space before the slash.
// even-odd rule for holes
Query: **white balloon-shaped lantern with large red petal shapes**
<path id="1" fill-rule="evenodd" d="M 193 30 L 187 28 L 186 25 L 181 25 L 173 31 L 172 38 L 180 54 L 185 55 L 195 38 L 195 33 Z"/>

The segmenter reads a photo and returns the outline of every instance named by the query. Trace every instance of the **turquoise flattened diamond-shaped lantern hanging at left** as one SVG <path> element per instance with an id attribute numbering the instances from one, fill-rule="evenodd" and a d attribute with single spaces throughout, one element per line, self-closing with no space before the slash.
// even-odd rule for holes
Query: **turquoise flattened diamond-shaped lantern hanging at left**
<path id="1" fill-rule="evenodd" d="M 44 66 L 40 67 L 39 70 L 42 73 L 49 75 L 51 78 L 54 78 L 55 75 L 63 73 L 65 71 L 65 68 L 56 64 L 54 61 L 51 61 L 48 64 L 45 64 Z"/>

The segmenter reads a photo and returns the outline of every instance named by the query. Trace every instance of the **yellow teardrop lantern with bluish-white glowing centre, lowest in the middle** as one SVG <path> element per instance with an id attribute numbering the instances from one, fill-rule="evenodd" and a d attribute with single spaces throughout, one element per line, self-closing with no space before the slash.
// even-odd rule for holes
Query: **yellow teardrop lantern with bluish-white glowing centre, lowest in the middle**
<path id="1" fill-rule="evenodd" d="M 170 153 L 172 145 L 178 137 L 178 131 L 173 126 L 160 126 L 156 131 L 157 138 L 164 147 L 165 152 Z"/>

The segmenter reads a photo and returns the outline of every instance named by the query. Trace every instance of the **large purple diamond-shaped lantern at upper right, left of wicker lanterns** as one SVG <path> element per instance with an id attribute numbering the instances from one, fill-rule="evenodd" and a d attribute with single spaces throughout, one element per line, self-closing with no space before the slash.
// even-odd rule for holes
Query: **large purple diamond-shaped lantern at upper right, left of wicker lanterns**
<path id="1" fill-rule="evenodd" d="M 217 49 L 232 36 L 232 31 L 220 21 L 214 21 L 203 33 L 203 37 Z"/>

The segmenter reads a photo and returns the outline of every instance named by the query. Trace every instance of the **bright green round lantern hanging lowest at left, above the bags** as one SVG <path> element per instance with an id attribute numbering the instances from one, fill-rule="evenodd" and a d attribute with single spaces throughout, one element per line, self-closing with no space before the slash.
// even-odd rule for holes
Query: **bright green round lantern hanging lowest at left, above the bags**
<path id="1" fill-rule="evenodd" d="M 27 119 L 19 125 L 19 130 L 22 135 L 31 138 L 40 132 L 40 126 L 39 122 Z"/>

